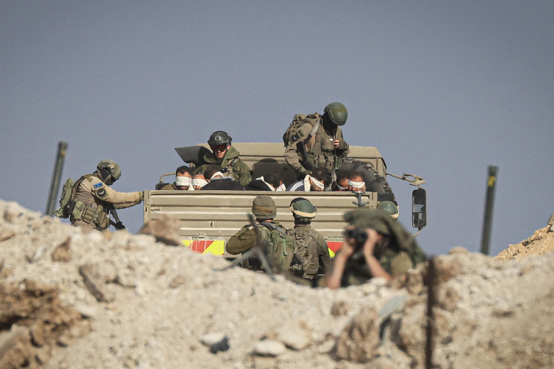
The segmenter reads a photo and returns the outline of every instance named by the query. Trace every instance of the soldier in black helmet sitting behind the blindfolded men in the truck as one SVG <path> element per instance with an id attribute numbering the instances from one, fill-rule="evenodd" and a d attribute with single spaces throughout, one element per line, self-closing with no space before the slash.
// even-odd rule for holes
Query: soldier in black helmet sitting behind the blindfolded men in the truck
<path id="1" fill-rule="evenodd" d="M 248 165 L 240 160 L 240 153 L 231 145 L 232 140 L 227 132 L 213 132 L 208 140 L 212 152 L 204 155 L 204 162 L 206 163 L 196 168 L 193 174 L 203 174 L 209 165 L 215 165 L 225 176 L 232 177 L 243 186 L 252 181 L 252 171 Z"/>

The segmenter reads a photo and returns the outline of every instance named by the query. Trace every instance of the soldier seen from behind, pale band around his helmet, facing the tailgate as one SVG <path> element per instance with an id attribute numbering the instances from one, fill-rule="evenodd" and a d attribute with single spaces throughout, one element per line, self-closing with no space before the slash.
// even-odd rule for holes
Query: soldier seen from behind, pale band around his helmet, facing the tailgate
<path id="1" fill-rule="evenodd" d="M 302 260 L 301 265 L 293 265 L 293 273 L 302 278 L 315 279 L 318 274 L 327 273 L 331 262 L 325 237 L 310 225 L 316 208 L 309 200 L 297 197 L 291 201 L 289 209 L 294 216 L 294 228 L 289 229 L 289 234 L 294 239 L 294 253 Z"/>

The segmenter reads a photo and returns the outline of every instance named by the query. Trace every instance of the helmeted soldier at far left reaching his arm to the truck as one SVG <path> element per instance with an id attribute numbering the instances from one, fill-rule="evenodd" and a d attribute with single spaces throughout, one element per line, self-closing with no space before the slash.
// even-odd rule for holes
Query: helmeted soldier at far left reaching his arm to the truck
<path id="1" fill-rule="evenodd" d="M 78 212 L 73 211 L 71 224 L 82 227 L 84 231 L 103 230 L 110 226 L 109 210 L 123 209 L 139 204 L 143 192 L 117 192 L 110 188 L 121 178 L 121 169 L 112 160 L 102 160 L 96 171 L 79 178 L 71 191 L 75 207 L 82 206 Z M 79 214 L 75 217 L 75 214 Z"/>

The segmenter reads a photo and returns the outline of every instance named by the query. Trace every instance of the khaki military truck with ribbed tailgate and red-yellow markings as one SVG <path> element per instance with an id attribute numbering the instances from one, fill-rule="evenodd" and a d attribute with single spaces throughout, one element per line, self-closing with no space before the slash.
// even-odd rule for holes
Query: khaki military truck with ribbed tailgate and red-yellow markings
<path id="1" fill-rule="evenodd" d="M 252 168 L 252 178 L 268 173 L 278 173 L 286 186 L 295 182 L 296 172 L 285 162 L 282 143 L 233 143 L 240 152 L 240 158 Z M 177 147 L 182 160 L 191 167 L 203 164 L 208 145 Z M 412 192 L 412 225 L 419 230 L 427 224 L 425 183 L 423 178 L 408 175 L 391 175 L 376 147 L 350 146 L 350 155 L 345 158 L 340 170 L 364 173 L 366 192 L 267 192 L 267 191 L 160 191 L 164 176 L 160 177 L 155 190 L 144 192 L 144 221 L 156 219 L 164 214 L 180 221 L 180 239 L 184 246 L 202 254 L 223 255 L 235 258 L 238 255 L 225 253 L 225 243 L 248 223 L 248 214 L 253 199 L 266 194 L 274 199 L 277 206 L 275 218 L 286 228 L 294 227 L 293 214 L 289 204 L 296 197 L 304 197 L 317 208 L 317 216 L 312 227 L 325 235 L 329 253 L 334 257 L 340 248 L 342 232 L 346 223 L 342 214 L 358 207 L 375 208 L 381 201 L 396 203 L 394 193 L 386 175 L 408 181 L 418 188 Z"/>

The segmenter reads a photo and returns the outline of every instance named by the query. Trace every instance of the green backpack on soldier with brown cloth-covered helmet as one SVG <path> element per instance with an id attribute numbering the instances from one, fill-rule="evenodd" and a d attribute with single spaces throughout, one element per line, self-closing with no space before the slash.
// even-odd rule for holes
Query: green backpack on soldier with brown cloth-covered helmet
<path id="1" fill-rule="evenodd" d="M 271 222 L 261 222 L 255 224 L 255 228 L 261 233 L 261 241 L 268 242 L 269 249 L 273 253 L 274 263 L 278 268 L 286 270 L 290 268 L 294 256 L 294 241 L 286 231 Z M 248 260 L 244 260 L 243 268 L 250 269 Z"/>

